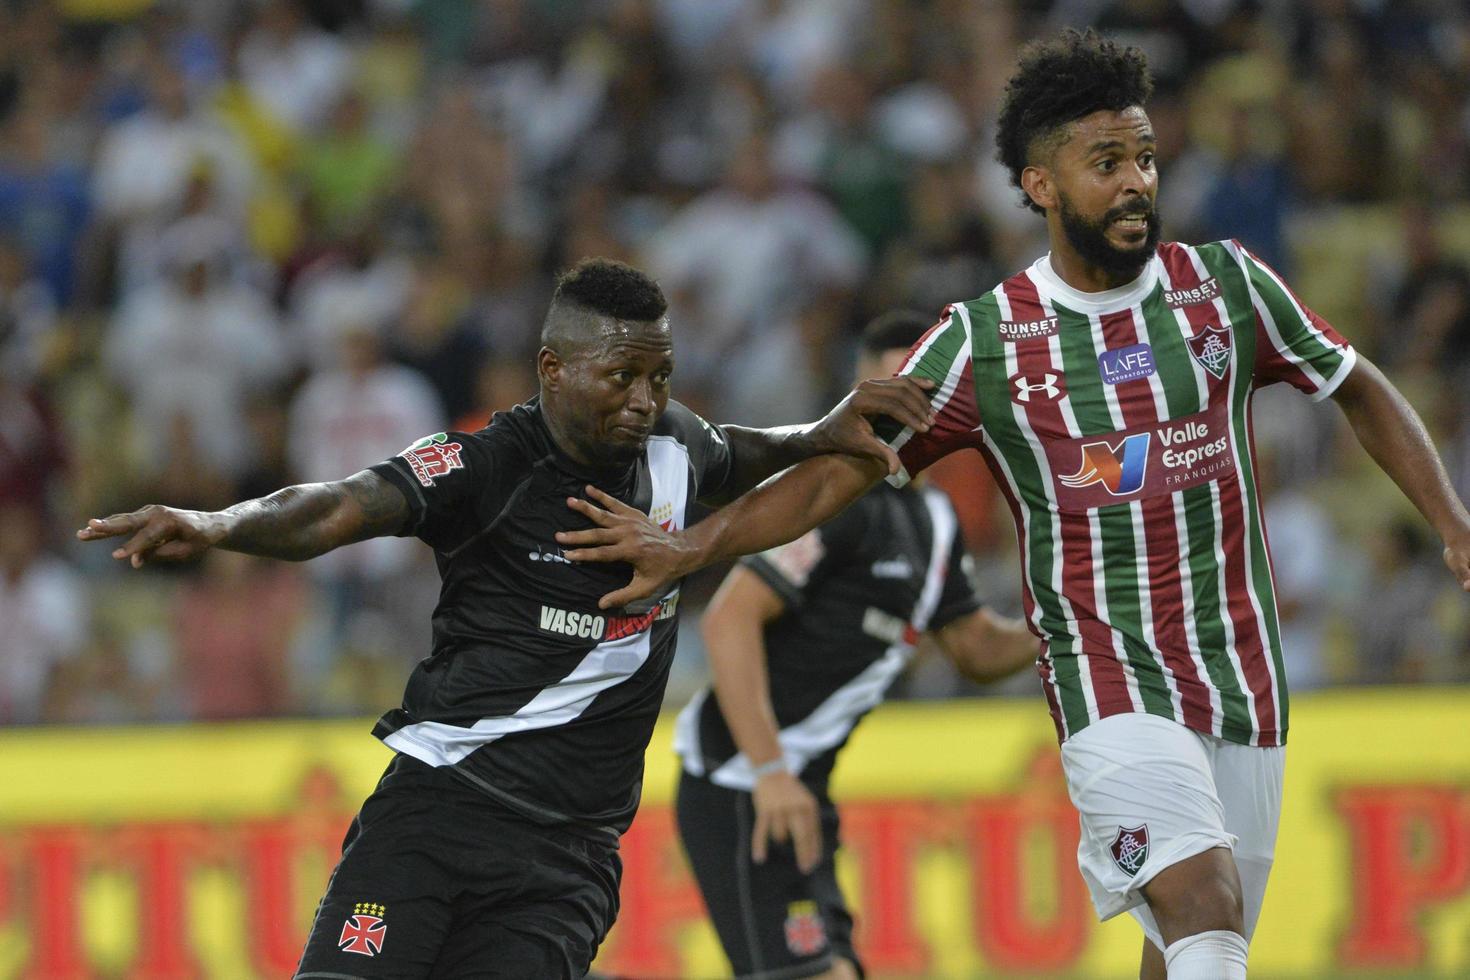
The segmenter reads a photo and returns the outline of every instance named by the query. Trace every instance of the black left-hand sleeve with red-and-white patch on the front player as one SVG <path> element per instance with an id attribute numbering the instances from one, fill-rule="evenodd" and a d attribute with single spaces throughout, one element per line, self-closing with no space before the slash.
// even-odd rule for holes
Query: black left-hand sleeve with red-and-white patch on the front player
<path id="1" fill-rule="evenodd" d="M 497 458 L 504 453 L 485 432 L 438 432 L 370 467 L 409 500 L 400 538 L 453 551 L 494 520 L 523 467 Z"/>

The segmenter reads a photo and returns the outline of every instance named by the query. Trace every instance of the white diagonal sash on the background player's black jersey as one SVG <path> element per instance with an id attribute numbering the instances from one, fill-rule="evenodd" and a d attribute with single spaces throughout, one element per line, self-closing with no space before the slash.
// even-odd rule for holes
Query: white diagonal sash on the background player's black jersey
<path id="1" fill-rule="evenodd" d="M 913 616 L 908 620 L 919 633 L 929 629 L 929 620 L 939 607 L 939 598 L 944 595 L 945 570 L 948 569 L 950 552 L 956 545 L 956 533 L 958 530 L 958 519 L 954 516 L 954 507 L 950 504 L 950 500 L 935 489 L 926 488 L 920 492 L 923 494 L 925 507 L 929 510 L 933 541 L 929 545 L 929 569 L 925 573 L 923 588 L 919 592 Z M 892 685 L 894 679 L 908 664 L 913 652 L 913 644 L 906 641 L 894 644 L 860 674 L 828 695 L 811 714 L 782 729 L 778 735 L 781 754 L 791 771 L 801 774 L 807 763 L 841 745 L 863 713 L 870 711 L 882 702 L 889 685 Z M 704 761 L 698 755 L 698 707 L 704 704 L 707 695 L 707 689 L 701 691 L 679 716 L 681 730 L 686 716 L 689 717 L 688 726 L 694 730 L 692 739 L 685 741 L 685 746 L 692 751 L 682 752 L 684 768 L 691 776 L 704 774 Z M 756 789 L 756 777 L 751 771 L 750 758 L 744 752 L 736 752 L 734 758 L 710 773 L 709 779 L 716 786 L 725 786 L 726 789 L 745 792 Z"/>

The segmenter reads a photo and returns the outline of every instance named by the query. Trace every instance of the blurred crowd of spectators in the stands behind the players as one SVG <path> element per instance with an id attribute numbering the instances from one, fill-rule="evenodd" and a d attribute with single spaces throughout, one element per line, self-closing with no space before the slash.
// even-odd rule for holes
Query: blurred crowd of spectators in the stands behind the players
<path id="1" fill-rule="evenodd" d="M 992 134 L 1019 46 L 1063 25 L 1150 56 L 1166 237 L 1282 269 L 1470 497 L 1458 0 L 3 0 L 0 724 L 394 705 L 422 545 L 131 572 L 72 532 L 478 429 L 534 392 L 584 256 L 662 282 L 676 397 L 814 417 L 870 316 L 1045 250 Z M 1257 450 L 1292 686 L 1470 680 L 1470 604 L 1330 403 L 1261 392 Z M 1014 610 L 989 476 L 938 470 Z M 904 689 L 973 693 L 938 660 Z"/>

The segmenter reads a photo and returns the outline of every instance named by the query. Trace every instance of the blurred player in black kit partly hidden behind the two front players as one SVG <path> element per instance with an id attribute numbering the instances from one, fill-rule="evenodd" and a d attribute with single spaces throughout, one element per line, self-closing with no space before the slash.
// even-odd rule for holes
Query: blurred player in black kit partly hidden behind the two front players
<path id="1" fill-rule="evenodd" d="M 869 323 L 857 378 L 894 375 L 928 326 L 908 311 Z M 706 610 L 713 683 L 675 735 L 679 836 L 736 977 L 860 976 L 828 780 L 920 636 L 975 680 L 1036 660 L 1025 623 L 982 608 L 966 558 L 942 491 L 879 483 L 744 558 Z"/>

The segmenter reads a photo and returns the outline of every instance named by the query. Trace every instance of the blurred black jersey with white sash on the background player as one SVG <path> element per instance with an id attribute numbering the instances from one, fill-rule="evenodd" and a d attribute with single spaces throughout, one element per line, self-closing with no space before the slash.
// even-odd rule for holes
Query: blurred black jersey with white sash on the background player
<path id="1" fill-rule="evenodd" d="M 925 630 L 980 607 L 950 498 L 932 488 L 867 495 L 803 538 L 742 564 L 785 601 L 766 627 L 770 701 L 786 764 L 825 790 L 836 752 L 913 657 Z M 709 689 L 679 714 L 691 776 L 754 788 L 750 760 Z"/>

